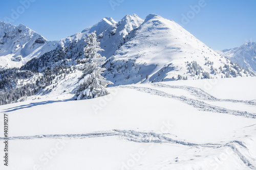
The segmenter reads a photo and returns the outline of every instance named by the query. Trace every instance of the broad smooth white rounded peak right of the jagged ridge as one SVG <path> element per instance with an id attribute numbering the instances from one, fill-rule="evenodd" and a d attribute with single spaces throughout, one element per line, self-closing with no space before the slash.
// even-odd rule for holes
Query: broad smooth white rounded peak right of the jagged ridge
<path id="1" fill-rule="evenodd" d="M 104 76 L 115 85 L 246 76 L 176 22 L 156 14 L 148 15 L 125 41 L 105 65 Z"/>

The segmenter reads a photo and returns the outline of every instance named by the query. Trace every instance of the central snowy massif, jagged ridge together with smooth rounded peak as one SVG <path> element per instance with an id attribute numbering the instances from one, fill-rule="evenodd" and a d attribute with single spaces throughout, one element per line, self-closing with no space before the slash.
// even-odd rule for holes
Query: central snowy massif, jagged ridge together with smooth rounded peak
<path id="1" fill-rule="evenodd" d="M 115 85 L 248 75 L 176 22 L 156 14 L 145 20 L 136 14 L 126 15 L 119 22 L 103 18 L 60 40 L 55 50 L 29 61 L 23 69 L 41 71 L 52 65 L 76 65 L 86 45 L 84 38 L 93 31 L 104 50 L 101 55 L 109 59 L 104 76 Z"/>

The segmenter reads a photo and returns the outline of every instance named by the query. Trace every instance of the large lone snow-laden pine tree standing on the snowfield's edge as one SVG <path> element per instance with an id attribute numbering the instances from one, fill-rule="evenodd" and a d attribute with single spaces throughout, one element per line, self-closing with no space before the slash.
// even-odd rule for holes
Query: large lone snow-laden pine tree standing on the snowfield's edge
<path id="1" fill-rule="evenodd" d="M 97 41 L 95 32 L 88 34 L 86 38 L 87 45 L 83 48 L 83 58 L 78 59 L 82 76 L 79 78 L 79 87 L 77 89 L 76 100 L 92 99 L 108 94 L 106 86 L 113 84 L 107 81 L 101 74 L 105 71 L 102 64 L 105 57 L 98 52 L 103 51 L 100 48 L 100 42 Z"/>

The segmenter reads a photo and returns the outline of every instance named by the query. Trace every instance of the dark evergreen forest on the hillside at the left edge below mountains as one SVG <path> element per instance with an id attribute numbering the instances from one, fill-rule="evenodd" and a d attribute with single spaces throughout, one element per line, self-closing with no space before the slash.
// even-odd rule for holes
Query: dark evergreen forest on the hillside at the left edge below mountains
<path id="1" fill-rule="evenodd" d="M 39 91 L 54 83 L 56 76 L 67 75 L 75 68 L 58 65 L 54 68 L 47 67 L 40 74 L 18 68 L 0 71 L 0 105 L 24 101 L 28 96 L 35 95 Z M 30 80 L 24 84 L 24 80 Z"/>

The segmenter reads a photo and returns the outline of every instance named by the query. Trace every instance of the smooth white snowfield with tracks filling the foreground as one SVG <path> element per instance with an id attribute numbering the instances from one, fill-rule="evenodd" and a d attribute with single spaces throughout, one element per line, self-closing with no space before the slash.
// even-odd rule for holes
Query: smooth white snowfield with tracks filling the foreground
<path id="1" fill-rule="evenodd" d="M 256 169 L 255 84 L 137 84 L 91 100 L 52 95 L 0 106 L 10 136 L 9 166 L 0 169 Z"/>

